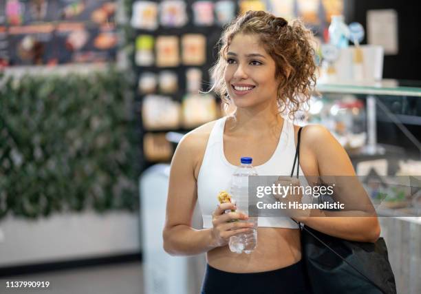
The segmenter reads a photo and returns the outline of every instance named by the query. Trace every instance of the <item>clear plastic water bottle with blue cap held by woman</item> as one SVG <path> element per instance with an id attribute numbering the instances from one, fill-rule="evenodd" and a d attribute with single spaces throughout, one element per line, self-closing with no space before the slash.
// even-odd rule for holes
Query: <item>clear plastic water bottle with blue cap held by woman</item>
<path id="1" fill-rule="evenodd" d="M 237 205 L 237 211 L 248 215 L 248 176 L 257 176 L 256 169 L 251 165 L 251 157 L 241 157 L 241 165 L 234 171 L 231 195 Z M 257 246 L 257 217 L 249 217 L 240 222 L 253 222 L 255 227 L 250 233 L 240 233 L 230 238 L 230 251 L 235 253 L 251 253 Z"/>

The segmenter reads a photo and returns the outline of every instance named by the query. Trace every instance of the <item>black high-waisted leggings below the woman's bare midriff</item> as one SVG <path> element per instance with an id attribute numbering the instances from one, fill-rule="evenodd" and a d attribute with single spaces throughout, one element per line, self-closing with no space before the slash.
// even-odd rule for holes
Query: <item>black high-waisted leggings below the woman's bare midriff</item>
<path id="1" fill-rule="evenodd" d="M 202 294 L 310 294 L 303 263 L 261 273 L 228 273 L 206 265 Z"/>

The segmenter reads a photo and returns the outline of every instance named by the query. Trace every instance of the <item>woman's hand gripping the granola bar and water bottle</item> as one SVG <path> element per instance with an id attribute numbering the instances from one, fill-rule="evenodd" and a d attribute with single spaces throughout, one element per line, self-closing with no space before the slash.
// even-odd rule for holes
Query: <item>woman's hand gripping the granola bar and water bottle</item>
<path id="1" fill-rule="evenodd" d="M 213 245 L 216 247 L 228 244 L 230 237 L 239 233 L 248 233 L 254 227 L 252 222 L 233 222 L 233 220 L 248 220 L 248 216 L 244 213 L 229 212 L 226 210 L 235 210 L 235 204 L 222 203 L 212 214 L 212 239 Z"/>

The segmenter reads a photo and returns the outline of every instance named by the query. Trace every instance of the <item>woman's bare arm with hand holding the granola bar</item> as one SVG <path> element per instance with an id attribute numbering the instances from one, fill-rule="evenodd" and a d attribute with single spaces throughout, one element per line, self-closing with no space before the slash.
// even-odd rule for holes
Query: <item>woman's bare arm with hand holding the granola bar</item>
<path id="1" fill-rule="evenodd" d="M 243 213 L 225 213 L 226 210 L 235 209 L 235 206 L 223 203 L 215 207 L 212 229 L 196 230 L 191 227 L 197 201 L 195 167 L 199 158 L 201 161 L 200 154 L 204 153 L 208 138 L 208 134 L 203 136 L 200 131 L 197 133 L 193 131 L 184 136 L 171 162 L 166 220 L 162 232 L 164 250 L 171 255 L 195 255 L 224 246 L 228 244 L 230 236 L 249 232 L 253 225 L 250 222 L 230 222 L 248 217 Z"/>

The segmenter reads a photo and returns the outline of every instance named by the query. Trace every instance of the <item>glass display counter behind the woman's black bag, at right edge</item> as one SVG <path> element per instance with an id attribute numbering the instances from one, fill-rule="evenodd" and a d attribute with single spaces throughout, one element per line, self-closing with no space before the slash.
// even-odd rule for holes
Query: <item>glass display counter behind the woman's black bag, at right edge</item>
<path id="1" fill-rule="evenodd" d="M 421 82 L 321 84 L 316 90 L 321 98 L 313 99 L 309 122 L 330 129 L 358 176 L 385 184 L 387 196 L 376 211 L 398 293 L 421 293 Z"/>

